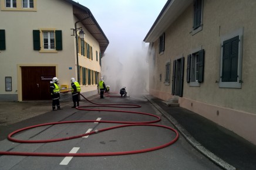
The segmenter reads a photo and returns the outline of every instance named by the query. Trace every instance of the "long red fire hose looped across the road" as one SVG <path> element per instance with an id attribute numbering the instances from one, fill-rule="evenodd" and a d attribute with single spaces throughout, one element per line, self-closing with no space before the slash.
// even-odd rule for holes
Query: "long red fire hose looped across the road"
<path id="1" fill-rule="evenodd" d="M 82 94 L 80 94 L 83 98 Z M 86 98 L 85 98 L 86 99 Z M 86 99 L 88 102 L 91 102 L 90 100 Z M 154 127 L 161 127 L 164 129 L 169 129 L 173 131 L 176 134 L 176 137 L 174 137 L 173 140 L 169 141 L 166 144 L 159 145 L 157 147 L 151 147 L 151 148 L 146 148 L 143 150 L 134 150 L 134 151 L 120 151 L 120 152 L 96 152 L 96 153 L 53 153 L 53 152 L 9 152 L 9 151 L 0 151 L 0 155 L 23 155 L 23 156 L 45 156 L 45 157 L 93 157 L 93 156 L 110 156 L 110 155 L 126 155 L 126 154 L 137 154 L 137 153 L 142 153 L 142 152 L 149 152 L 149 151 L 154 151 L 154 150 L 159 150 L 161 148 L 167 147 L 173 143 L 175 143 L 178 140 L 178 131 L 168 127 L 168 126 L 163 126 L 159 124 L 151 124 L 151 123 L 156 123 L 159 122 L 161 119 L 159 116 L 152 115 L 150 113 L 143 113 L 143 112 L 131 112 L 131 111 L 124 111 L 124 110 L 106 110 L 106 109 L 87 109 L 85 107 L 95 107 L 95 106 L 100 106 L 100 107 L 123 107 L 123 108 L 136 108 L 136 107 L 141 107 L 140 105 L 129 105 L 129 104 L 112 104 L 112 105 L 100 105 L 97 103 L 93 103 L 94 105 L 92 106 L 78 106 L 76 109 L 78 110 L 88 110 L 88 111 L 105 111 L 105 112 L 126 112 L 126 113 L 134 113 L 134 114 L 141 114 L 141 115 L 147 115 L 147 116 L 153 116 L 156 117 L 157 120 L 153 120 L 150 122 L 119 122 L 119 121 L 106 121 L 106 120 L 74 120 L 74 121 L 65 121 L 65 122 L 52 122 L 52 123 L 43 123 L 43 124 L 38 124 L 35 126 L 29 126 L 25 127 L 23 129 L 19 129 L 16 131 L 13 131 L 8 135 L 8 140 L 14 141 L 16 143 L 52 143 L 56 141 L 64 141 L 64 140 L 72 140 L 74 138 L 79 138 L 83 136 L 89 136 L 92 134 L 97 134 L 103 131 L 107 130 L 112 130 L 112 129 L 117 129 L 117 128 L 122 128 L 122 127 L 128 127 L 128 126 L 154 126 Z M 87 123 L 87 122 L 99 122 L 99 123 L 122 123 L 122 125 L 119 126 L 113 126 L 113 127 L 107 127 L 105 129 L 99 129 L 95 131 L 90 131 L 89 133 L 85 134 L 80 134 L 78 136 L 72 136 L 72 137 L 65 137 L 65 138 L 55 138 L 55 139 L 50 139 L 50 140 L 19 140 L 16 139 L 12 136 L 14 136 L 17 133 L 20 133 L 22 131 L 28 130 L 28 129 L 33 129 L 36 127 L 42 127 L 42 126 L 49 126 L 49 125 L 54 125 L 54 124 L 65 124 L 65 123 Z"/>

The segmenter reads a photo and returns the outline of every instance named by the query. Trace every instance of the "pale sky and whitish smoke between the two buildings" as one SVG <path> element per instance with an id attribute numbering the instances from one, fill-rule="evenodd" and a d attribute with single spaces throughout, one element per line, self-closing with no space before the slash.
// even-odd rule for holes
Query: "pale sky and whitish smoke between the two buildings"
<path id="1" fill-rule="evenodd" d="M 102 58 L 102 77 L 117 92 L 147 93 L 149 67 L 143 42 L 167 0 L 75 0 L 92 12 L 109 40 Z"/>

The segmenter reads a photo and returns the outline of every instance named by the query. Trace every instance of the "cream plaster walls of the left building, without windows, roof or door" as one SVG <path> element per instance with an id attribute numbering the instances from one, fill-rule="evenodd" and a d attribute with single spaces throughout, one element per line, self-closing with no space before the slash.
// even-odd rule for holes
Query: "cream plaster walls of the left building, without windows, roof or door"
<path id="1" fill-rule="evenodd" d="M 21 96 L 21 66 L 56 66 L 56 76 L 60 85 L 69 85 L 70 78 L 76 77 L 76 48 L 73 28 L 76 18 L 72 5 L 65 1 L 36 1 L 36 11 L 0 11 L 0 29 L 5 30 L 6 50 L 0 51 L 0 79 L 12 77 L 12 92 L 5 92 L 4 82 L 0 84 L 0 94 L 18 94 Z M 1 1 L 1 5 L 2 5 Z M 50 5 L 49 5 L 50 4 Z M 78 25 L 79 26 L 79 25 Z M 62 30 L 63 50 L 56 53 L 40 53 L 33 50 L 33 30 Z M 93 47 L 93 60 L 79 55 L 79 65 L 100 72 L 99 54 L 96 61 L 96 50 L 100 52 L 99 43 L 87 32 L 85 40 Z M 18 66 L 18 67 L 17 67 Z M 71 70 L 69 68 L 72 68 Z M 83 86 L 83 91 L 95 91 L 96 85 Z"/>

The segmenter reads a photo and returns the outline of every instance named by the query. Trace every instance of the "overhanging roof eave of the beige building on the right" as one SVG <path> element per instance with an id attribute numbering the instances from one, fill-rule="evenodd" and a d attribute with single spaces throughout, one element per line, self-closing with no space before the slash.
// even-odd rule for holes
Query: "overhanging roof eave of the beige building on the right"
<path id="1" fill-rule="evenodd" d="M 144 38 L 145 43 L 153 43 L 187 9 L 194 0 L 168 0 L 156 21 Z"/>

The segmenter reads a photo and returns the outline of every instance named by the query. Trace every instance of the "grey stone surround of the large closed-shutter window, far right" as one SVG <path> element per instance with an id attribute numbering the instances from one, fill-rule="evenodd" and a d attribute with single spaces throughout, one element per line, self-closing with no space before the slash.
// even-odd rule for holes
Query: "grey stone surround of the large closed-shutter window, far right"
<path id="1" fill-rule="evenodd" d="M 219 75 L 219 87 L 220 88 L 242 88 L 242 47 L 243 47 L 243 34 L 244 28 L 241 27 L 234 32 L 229 34 L 225 34 L 221 37 L 221 56 L 220 56 L 220 75 Z M 222 81 L 223 75 L 223 44 L 224 41 L 231 40 L 234 37 L 239 37 L 238 42 L 238 61 L 237 61 L 237 81 L 235 82 L 227 82 Z"/>

